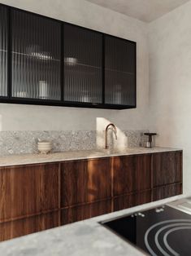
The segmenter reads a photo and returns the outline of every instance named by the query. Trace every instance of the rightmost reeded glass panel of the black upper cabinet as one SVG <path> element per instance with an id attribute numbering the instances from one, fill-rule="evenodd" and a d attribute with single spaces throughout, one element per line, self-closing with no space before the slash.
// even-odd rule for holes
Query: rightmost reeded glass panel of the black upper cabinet
<path id="1" fill-rule="evenodd" d="M 136 44 L 105 38 L 105 103 L 135 106 Z"/>

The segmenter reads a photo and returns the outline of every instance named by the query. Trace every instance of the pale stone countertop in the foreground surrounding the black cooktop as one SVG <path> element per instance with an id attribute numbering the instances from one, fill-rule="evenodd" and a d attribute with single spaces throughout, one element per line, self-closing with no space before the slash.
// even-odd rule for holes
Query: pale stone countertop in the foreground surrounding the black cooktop
<path id="1" fill-rule="evenodd" d="M 63 227 L 33 233 L 0 243 L 3 256 L 142 256 L 139 249 L 128 244 L 98 222 L 132 214 L 169 201 L 180 199 L 174 196 L 161 201 L 139 205 L 127 210 L 89 218 Z"/>

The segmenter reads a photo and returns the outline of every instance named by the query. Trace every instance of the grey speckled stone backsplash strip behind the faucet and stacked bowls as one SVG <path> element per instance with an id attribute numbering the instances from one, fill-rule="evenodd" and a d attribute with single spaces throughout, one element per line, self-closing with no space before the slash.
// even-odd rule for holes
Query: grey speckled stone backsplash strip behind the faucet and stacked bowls
<path id="1" fill-rule="evenodd" d="M 144 132 L 148 130 L 118 130 L 118 139 L 110 131 L 108 141 L 111 148 L 143 146 Z M 0 156 L 37 152 L 37 141 L 49 140 L 53 152 L 90 150 L 104 147 L 104 130 L 44 130 L 44 131 L 0 131 Z"/>

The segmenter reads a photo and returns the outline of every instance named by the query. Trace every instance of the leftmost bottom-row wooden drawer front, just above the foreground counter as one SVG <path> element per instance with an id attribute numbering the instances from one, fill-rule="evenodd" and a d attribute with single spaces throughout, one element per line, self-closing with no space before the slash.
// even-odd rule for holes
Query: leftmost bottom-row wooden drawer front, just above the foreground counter
<path id="1" fill-rule="evenodd" d="M 0 223 L 0 241 L 59 226 L 59 211 Z"/>

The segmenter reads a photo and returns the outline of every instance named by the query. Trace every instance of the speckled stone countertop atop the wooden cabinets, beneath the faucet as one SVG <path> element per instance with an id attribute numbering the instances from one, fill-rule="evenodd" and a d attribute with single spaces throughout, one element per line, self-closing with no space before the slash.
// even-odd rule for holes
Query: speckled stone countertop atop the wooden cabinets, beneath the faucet
<path id="1" fill-rule="evenodd" d="M 0 167 L 19 166 L 46 162 L 70 161 L 79 159 L 128 156 L 137 154 L 146 154 L 154 152 L 171 152 L 180 149 L 176 148 L 118 148 L 118 149 L 100 149 L 100 150 L 80 150 L 68 152 L 54 152 L 49 154 L 23 154 L 9 155 L 0 157 Z"/>

